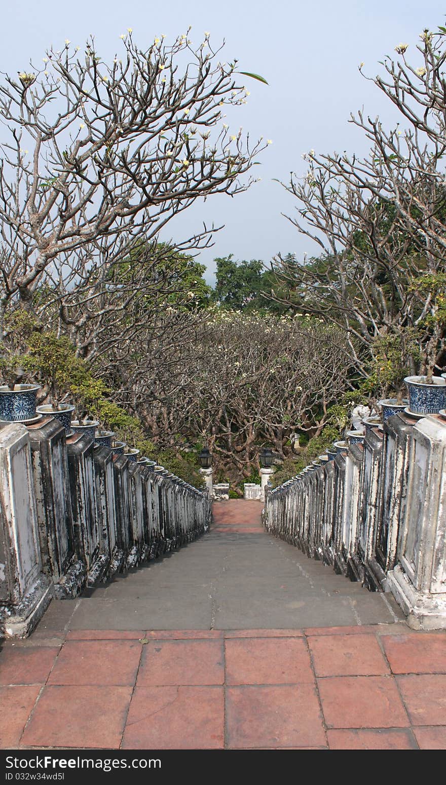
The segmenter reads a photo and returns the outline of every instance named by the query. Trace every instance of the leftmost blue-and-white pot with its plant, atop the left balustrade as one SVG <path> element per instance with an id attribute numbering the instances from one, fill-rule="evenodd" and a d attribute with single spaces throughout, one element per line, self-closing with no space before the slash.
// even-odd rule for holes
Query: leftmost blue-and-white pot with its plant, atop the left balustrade
<path id="1" fill-rule="evenodd" d="M 4 422 L 30 422 L 36 419 L 37 392 L 40 385 L 25 382 L 24 356 L 2 347 L 0 356 L 0 420 Z"/>

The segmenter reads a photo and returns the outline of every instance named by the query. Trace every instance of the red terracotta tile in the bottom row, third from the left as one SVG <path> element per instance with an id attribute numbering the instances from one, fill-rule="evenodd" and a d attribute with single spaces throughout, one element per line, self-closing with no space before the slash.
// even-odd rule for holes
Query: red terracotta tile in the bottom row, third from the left
<path id="1" fill-rule="evenodd" d="M 137 687 L 122 748 L 222 749 L 224 727 L 222 687 Z"/>

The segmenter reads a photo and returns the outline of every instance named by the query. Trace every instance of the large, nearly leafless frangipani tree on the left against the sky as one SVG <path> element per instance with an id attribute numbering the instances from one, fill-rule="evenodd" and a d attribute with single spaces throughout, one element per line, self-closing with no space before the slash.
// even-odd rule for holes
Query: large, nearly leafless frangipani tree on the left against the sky
<path id="1" fill-rule="evenodd" d="M 108 64 L 93 38 L 83 53 L 66 41 L 0 85 L 0 316 L 11 300 L 30 308 L 47 277 L 64 295 L 97 255 L 123 258 L 196 199 L 253 181 L 261 141 L 221 122 L 246 100 L 236 62 L 219 62 L 208 35 L 198 48 L 187 35 L 148 49 L 121 38 Z"/>

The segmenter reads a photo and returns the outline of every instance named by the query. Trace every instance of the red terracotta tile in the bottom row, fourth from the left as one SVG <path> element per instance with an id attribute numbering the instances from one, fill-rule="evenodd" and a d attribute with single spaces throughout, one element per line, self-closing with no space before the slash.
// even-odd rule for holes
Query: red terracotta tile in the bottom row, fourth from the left
<path id="1" fill-rule="evenodd" d="M 313 685 L 228 687 L 228 747 L 323 747 L 326 743 Z"/>

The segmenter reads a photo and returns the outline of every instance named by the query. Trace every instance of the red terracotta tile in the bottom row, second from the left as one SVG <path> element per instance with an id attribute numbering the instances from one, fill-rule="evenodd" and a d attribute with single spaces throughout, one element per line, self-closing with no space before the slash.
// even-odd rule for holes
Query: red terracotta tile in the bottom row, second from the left
<path id="1" fill-rule="evenodd" d="M 131 687 L 43 688 L 21 743 L 31 747 L 119 747 Z"/>

